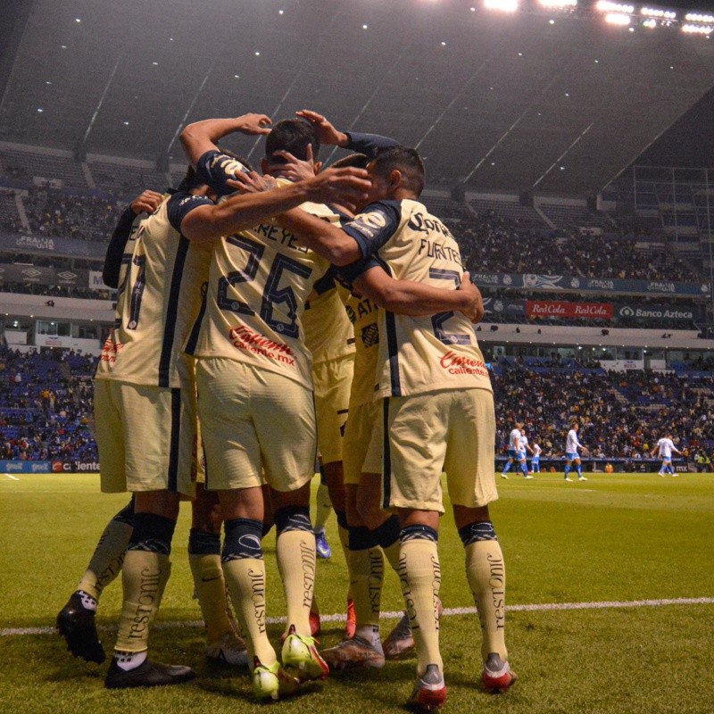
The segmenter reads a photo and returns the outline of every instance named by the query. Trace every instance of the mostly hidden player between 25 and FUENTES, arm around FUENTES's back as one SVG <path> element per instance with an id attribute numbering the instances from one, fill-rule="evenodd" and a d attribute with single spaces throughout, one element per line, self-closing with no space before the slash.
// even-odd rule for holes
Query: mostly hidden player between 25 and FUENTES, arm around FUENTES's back
<path id="1" fill-rule="evenodd" d="M 324 117 L 316 112 L 299 112 L 309 115 L 311 120 L 323 128 L 321 138 L 328 143 L 343 145 L 348 143 L 341 138 Z M 327 131 L 324 128 L 327 125 Z M 329 136 L 326 136 L 329 135 Z M 360 147 L 371 151 L 369 145 L 377 142 L 382 145 L 394 145 L 395 142 L 375 135 L 350 135 L 349 143 L 360 142 Z M 361 159 L 364 165 L 368 157 L 364 154 L 346 157 L 346 160 Z M 341 162 L 337 162 L 341 164 Z M 357 165 L 357 164 L 355 164 Z M 345 207 L 353 212 L 354 207 Z M 327 256 L 326 256 L 327 257 Z M 353 322 L 355 344 L 357 347 L 354 361 L 354 378 L 349 401 L 349 418 L 345 430 L 345 499 L 346 523 L 348 531 L 347 563 L 350 571 L 350 586 L 353 594 L 355 611 L 355 629 L 336 647 L 325 650 L 322 654 L 330 667 L 334 668 L 375 668 L 385 664 L 388 655 L 398 656 L 413 646 L 411 628 L 408 619 L 394 628 L 387 637 L 384 648 L 379 634 L 380 594 L 384 576 L 384 557 L 394 570 L 399 567 L 399 521 L 377 509 L 376 513 L 360 512 L 373 501 L 377 491 L 379 502 L 379 484 L 381 477 L 380 461 L 381 440 L 372 439 L 372 431 L 378 423 L 373 402 L 374 375 L 378 348 L 378 305 L 389 307 L 398 312 L 410 314 L 429 314 L 444 309 L 466 309 L 471 311 L 474 301 L 480 305 L 477 288 L 470 284 L 468 290 L 458 294 L 439 288 L 423 286 L 418 283 L 395 281 L 386 273 L 369 278 L 369 297 L 350 295 L 347 291 L 346 307 Z M 425 300 L 427 302 L 425 302 Z M 458 302 L 458 304 L 457 304 Z M 320 424 L 318 425 L 320 430 Z M 372 442 L 372 448 L 370 447 Z M 376 488 L 375 488 L 376 486 Z"/>

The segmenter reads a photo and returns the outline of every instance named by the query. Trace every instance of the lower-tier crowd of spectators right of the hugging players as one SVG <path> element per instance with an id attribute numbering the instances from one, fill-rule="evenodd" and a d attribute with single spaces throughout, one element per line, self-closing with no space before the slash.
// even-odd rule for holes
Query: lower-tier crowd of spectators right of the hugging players
<path id="1" fill-rule="evenodd" d="M 712 451 L 714 375 L 692 380 L 645 370 L 534 372 L 502 364 L 493 375 L 497 452 L 502 452 L 516 420 L 544 457 L 562 457 L 570 420 L 581 424 L 578 438 L 591 455 L 606 459 L 649 456 L 666 433 L 680 451 Z"/>

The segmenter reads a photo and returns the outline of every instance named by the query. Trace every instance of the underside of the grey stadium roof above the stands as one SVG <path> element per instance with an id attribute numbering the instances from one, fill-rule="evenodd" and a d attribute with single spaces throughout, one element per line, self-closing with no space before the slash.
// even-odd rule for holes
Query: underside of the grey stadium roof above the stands
<path id="1" fill-rule="evenodd" d="M 481 2 L 9 0 L 0 139 L 179 157 L 187 121 L 311 108 L 417 145 L 431 187 L 589 195 L 714 86 L 701 35 Z"/>

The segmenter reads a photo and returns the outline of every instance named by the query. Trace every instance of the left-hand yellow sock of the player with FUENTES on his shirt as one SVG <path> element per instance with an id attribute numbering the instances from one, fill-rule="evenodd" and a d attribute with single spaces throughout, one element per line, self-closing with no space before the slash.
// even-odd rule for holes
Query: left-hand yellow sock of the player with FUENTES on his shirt
<path id="1" fill-rule="evenodd" d="M 405 530 L 407 530 L 405 528 Z M 436 611 L 441 586 L 441 566 L 435 539 L 412 537 L 403 540 L 399 580 L 406 611 L 417 645 L 417 674 L 436 664 L 444 671 L 439 652 L 439 616 Z"/>

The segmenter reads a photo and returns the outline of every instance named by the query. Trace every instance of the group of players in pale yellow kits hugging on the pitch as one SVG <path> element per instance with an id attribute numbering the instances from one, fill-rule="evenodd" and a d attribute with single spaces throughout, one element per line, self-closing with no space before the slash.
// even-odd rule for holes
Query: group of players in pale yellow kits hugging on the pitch
<path id="1" fill-rule="evenodd" d="M 206 652 L 247 666 L 256 699 L 287 697 L 330 668 L 384 667 L 411 645 L 417 678 L 407 703 L 436 709 L 446 701 L 437 550 L 445 472 L 482 631 L 477 667 L 488 691 L 505 691 L 516 675 L 488 512 L 495 421 L 473 328 L 481 296 L 451 232 L 419 203 L 425 171 L 414 149 L 297 113 L 275 126 L 262 114 L 187 126 L 179 189 L 145 191 L 112 236 L 104 281 L 118 300 L 95 377 L 96 440 L 102 490 L 132 499 L 104 530 L 57 626 L 74 655 L 104 661 L 95 610 L 121 571 L 105 685 L 192 679 L 191 668 L 146 657 L 179 501 L 190 499 Z M 265 135 L 260 174 L 220 148 L 234 132 Z M 320 144 L 347 154 L 323 169 Z M 311 617 L 316 453 L 354 611 L 345 639 L 322 651 Z M 262 552 L 273 525 L 286 596 L 279 658 Z M 385 559 L 405 603 L 389 647 L 379 633 Z"/>

